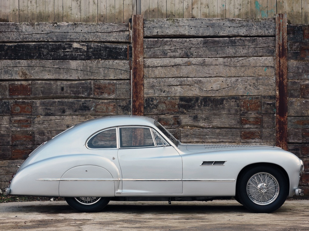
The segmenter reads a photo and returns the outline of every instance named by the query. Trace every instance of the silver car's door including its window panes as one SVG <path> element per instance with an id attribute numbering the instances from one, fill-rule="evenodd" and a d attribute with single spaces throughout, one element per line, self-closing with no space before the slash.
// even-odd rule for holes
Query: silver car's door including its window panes
<path id="1" fill-rule="evenodd" d="M 148 127 L 119 128 L 123 194 L 182 193 L 182 158 Z"/>

